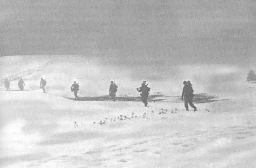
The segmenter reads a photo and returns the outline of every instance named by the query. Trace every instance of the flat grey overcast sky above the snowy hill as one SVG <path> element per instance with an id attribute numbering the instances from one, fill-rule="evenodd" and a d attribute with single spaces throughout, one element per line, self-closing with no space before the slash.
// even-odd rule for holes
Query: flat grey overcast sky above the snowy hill
<path id="1" fill-rule="evenodd" d="M 255 0 L 1 0 L 0 54 L 124 64 L 256 61 Z"/>

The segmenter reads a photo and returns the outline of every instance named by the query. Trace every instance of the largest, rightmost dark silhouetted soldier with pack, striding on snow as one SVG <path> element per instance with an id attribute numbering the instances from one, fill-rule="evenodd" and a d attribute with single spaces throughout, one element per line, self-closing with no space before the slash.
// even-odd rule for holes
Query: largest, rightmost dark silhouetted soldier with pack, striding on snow
<path id="1" fill-rule="evenodd" d="M 182 96 L 181 96 L 181 100 L 183 100 L 184 97 L 184 104 L 185 104 L 185 108 L 188 111 L 188 104 L 194 109 L 194 111 L 196 111 L 196 106 L 194 106 L 194 104 L 192 103 L 193 97 L 194 97 L 194 90 L 192 88 L 192 84 L 190 83 L 190 81 L 184 81 L 183 82 L 184 87 L 182 90 Z"/>

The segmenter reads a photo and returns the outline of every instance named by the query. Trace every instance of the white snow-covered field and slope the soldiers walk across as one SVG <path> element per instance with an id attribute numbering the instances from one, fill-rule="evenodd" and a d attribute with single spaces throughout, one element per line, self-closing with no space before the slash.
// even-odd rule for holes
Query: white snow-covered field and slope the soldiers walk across
<path id="1" fill-rule="evenodd" d="M 178 69 L 176 74 L 161 74 L 170 76 L 166 80 L 148 80 L 150 94 L 172 96 L 150 102 L 148 108 L 142 102 L 67 99 L 73 97 L 73 80 L 80 82 L 78 96 L 107 95 L 113 78 L 119 86 L 117 96 L 139 96 L 135 88 L 150 76 L 136 80 L 136 70 L 117 71 L 116 66 L 95 61 L 62 59 L 50 64 L 24 77 L 24 92 L 6 92 L 0 86 L 0 167 L 256 167 L 255 84 L 246 83 L 243 70 L 233 66 L 179 67 L 184 66 L 166 69 Z M 214 67 L 218 70 L 212 71 Z M 47 81 L 46 94 L 39 89 L 41 77 Z M 185 111 L 175 98 L 183 80 L 191 80 L 197 94 L 216 95 L 218 101 L 195 104 L 196 113 Z M 17 81 L 10 89 L 18 89 Z M 161 108 L 168 111 L 159 114 Z"/>

